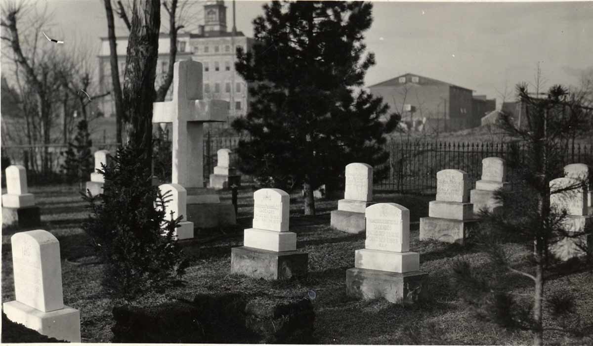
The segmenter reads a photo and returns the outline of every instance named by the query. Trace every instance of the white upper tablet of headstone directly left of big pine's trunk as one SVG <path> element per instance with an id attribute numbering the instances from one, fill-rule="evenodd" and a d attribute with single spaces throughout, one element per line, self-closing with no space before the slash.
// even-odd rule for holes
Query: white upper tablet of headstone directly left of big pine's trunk
<path id="1" fill-rule="evenodd" d="M 286 232 L 290 196 L 280 189 L 259 189 L 253 193 L 253 228 Z"/>

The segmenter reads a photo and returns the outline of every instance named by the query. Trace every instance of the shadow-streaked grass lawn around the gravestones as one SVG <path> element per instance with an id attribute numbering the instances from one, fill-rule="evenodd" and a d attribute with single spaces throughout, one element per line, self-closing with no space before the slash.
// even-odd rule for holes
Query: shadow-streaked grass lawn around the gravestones
<path id="1" fill-rule="evenodd" d="M 64 302 L 81 311 L 83 342 L 109 342 L 113 302 L 100 289 L 102 265 L 94 262 L 90 239 L 80 224 L 88 211 L 71 186 L 30 188 L 41 207 L 41 227 L 60 241 Z M 221 199 L 230 202 L 230 193 Z M 354 251 L 364 248 L 364 234 L 353 235 L 331 230 L 332 209 L 337 201 L 317 201 L 318 215 L 302 216 L 302 201 L 291 198 L 291 231 L 298 234 L 297 248 L 309 254 L 309 275 L 291 281 L 264 281 L 231 275 L 231 247 L 243 242 L 242 228 L 250 227 L 253 191 L 240 190 L 238 218 L 241 226 L 225 230 L 225 239 L 205 242 L 196 253 L 184 280 L 187 284 L 166 294 L 151 294 L 138 304 L 157 304 L 176 297 L 191 298 L 197 293 L 243 292 L 262 299 L 307 297 L 315 291 L 315 340 L 320 344 L 531 344 L 529 332 L 507 332 L 498 326 L 479 322 L 461 304 L 449 284 L 451 264 L 465 258 L 475 266 L 489 270 L 483 253 L 472 247 L 436 242 L 419 242 L 419 217 L 428 215 L 433 196 L 376 195 L 375 201 L 396 202 L 411 211 L 410 249 L 420 253 L 420 269 L 428 273 L 430 297 L 416 304 L 392 304 L 384 299 L 359 301 L 346 296 L 346 269 L 354 266 Z M 239 230 L 238 232 L 236 230 Z M 14 299 L 10 237 L 15 230 L 2 232 L 2 301 Z M 203 234 L 212 238 L 222 233 Z M 515 261 L 524 261 L 525 250 L 516 244 L 506 245 Z M 509 276 L 514 290 L 529 301 L 533 285 L 528 279 Z M 570 290 L 578 298 L 573 318 L 559 320 L 546 315 L 546 326 L 593 320 L 593 275 L 591 269 L 550 278 L 546 292 Z M 407 331 L 422 331 L 409 333 Z M 427 332 L 431 331 L 432 332 Z M 410 334 L 413 334 L 410 337 Z M 415 334 L 415 335 L 414 335 Z M 560 332 L 549 332 L 546 341 L 562 345 L 593 344 L 593 339 L 570 338 Z"/>

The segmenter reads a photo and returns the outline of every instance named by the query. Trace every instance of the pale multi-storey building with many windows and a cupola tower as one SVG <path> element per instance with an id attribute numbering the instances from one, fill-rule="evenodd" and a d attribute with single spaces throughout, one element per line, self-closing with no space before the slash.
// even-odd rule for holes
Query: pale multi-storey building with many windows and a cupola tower
<path id="1" fill-rule="evenodd" d="M 158 87 L 168 70 L 169 35 L 162 33 L 158 42 L 157 79 Z M 253 39 L 241 31 L 227 31 L 227 7 L 224 1 L 206 1 L 204 24 L 197 33 L 177 35 L 177 61 L 192 59 L 203 64 L 205 99 L 226 100 L 230 103 L 229 122 L 247 113 L 249 97 L 247 83 L 235 72 L 235 51 L 238 47 L 250 50 Z M 127 36 L 117 37 L 119 75 L 123 82 L 126 63 Z M 101 93 L 111 89 L 110 49 L 107 37 L 101 37 L 101 52 L 98 56 L 98 81 Z M 122 85 L 123 87 L 123 85 Z M 167 100 L 173 96 L 173 85 L 168 90 Z M 115 113 L 111 97 L 104 97 L 99 108 L 105 116 Z"/>

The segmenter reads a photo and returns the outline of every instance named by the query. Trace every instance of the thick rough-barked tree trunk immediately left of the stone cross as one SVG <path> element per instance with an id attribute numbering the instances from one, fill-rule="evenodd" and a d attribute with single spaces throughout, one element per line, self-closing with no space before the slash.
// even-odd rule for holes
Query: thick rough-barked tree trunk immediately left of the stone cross
<path id="1" fill-rule="evenodd" d="M 140 150 L 146 167 L 150 167 L 152 160 L 152 102 L 155 99 L 160 9 L 158 0 L 134 1 L 123 84 L 125 118 L 130 124 L 129 144 Z"/>

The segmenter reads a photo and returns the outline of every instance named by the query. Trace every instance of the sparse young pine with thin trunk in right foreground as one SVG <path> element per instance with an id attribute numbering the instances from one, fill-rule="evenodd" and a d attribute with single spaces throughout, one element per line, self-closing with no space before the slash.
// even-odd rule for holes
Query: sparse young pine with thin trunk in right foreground
<path id="1" fill-rule="evenodd" d="M 548 328 L 544 325 L 544 312 L 549 310 L 555 320 L 562 320 L 562 315 L 571 313 L 570 306 L 575 304 L 570 294 L 546 294 L 546 278 L 581 265 L 578 259 L 562 261 L 554 247 L 570 239 L 586 258 L 591 255 L 586 239 L 591 239 L 592 230 L 573 229 L 567 211 L 550 204 L 552 195 L 574 198 L 576 189 L 586 185 L 589 177 L 579 177 L 562 188 L 550 186 L 550 182 L 565 175 L 563 168 L 569 153 L 566 138 L 572 128 L 591 122 L 593 114 L 561 85 L 551 87 L 546 97 L 540 97 L 538 91 L 535 96 L 528 93 L 526 84 L 519 85 L 517 90 L 519 101 L 526 106 L 526 121 L 518 126 L 517 119 L 503 113 L 499 124 L 511 137 L 519 138 L 523 146 L 519 151 L 519 145 L 514 145 L 506 158 L 514 186 L 512 191 L 495 193 L 503 202 L 503 211 L 482 211 L 483 221 L 470 237 L 487 254 L 489 264 L 483 268 L 488 269 L 472 268 L 468 262 L 458 261 L 453 268 L 453 280 L 461 298 L 475 309 L 479 318 L 506 329 L 532 331 L 534 344 L 541 345 Z M 518 264 L 509 258 L 504 246 L 509 242 L 525 246 L 524 261 Z M 528 299 L 525 294 L 513 293 L 517 282 L 525 278 L 534 287 L 533 296 Z M 550 309 L 544 309 L 546 306 Z M 563 331 L 583 337 L 586 329 L 591 328 Z"/>

